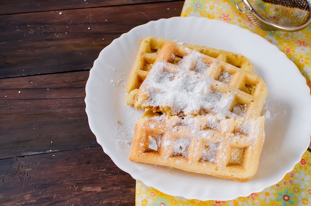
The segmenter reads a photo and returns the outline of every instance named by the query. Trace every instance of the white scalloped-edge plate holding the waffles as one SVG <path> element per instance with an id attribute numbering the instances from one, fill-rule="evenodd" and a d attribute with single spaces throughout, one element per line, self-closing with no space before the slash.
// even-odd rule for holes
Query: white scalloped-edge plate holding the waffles
<path id="1" fill-rule="evenodd" d="M 267 84 L 266 140 L 258 171 L 246 183 L 129 161 L 141 111 L 125 103 L 129 72 L 143 37 L 157 36 L 244 54 Z M 204 17 L 172 17 L 137 26 L 105 47 L 86 83 L 89 126 L 104 152 L 123 171 L 167 195 L 231 200 L 260 192 L 293 170 L 311 135 L 311 97 L 305 78 L 277 47 L 246 29 Z M 119 122 L 119 123 L 118 123 Z"/>

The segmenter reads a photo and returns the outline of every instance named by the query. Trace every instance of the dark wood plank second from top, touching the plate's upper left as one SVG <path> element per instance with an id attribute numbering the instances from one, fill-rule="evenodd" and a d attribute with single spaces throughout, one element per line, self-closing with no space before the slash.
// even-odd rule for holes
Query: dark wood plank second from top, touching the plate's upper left
<path id="1" fill-rule="evenodd" d="M 88 70 L 133 27 L 180 15 L 183 1 L 0 15 L 0 78 Z"/>

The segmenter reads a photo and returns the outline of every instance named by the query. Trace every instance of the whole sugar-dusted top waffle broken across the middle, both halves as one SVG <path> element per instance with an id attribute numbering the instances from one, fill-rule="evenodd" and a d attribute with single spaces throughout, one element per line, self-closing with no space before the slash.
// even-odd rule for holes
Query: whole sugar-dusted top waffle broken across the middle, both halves
<path id="1" fill-rule="evenodd" d="M 257 171 L 267 94 L 253 73 L 166 40 L 135 95 L 145 113 L 129 158 L 245 182 Z"/>

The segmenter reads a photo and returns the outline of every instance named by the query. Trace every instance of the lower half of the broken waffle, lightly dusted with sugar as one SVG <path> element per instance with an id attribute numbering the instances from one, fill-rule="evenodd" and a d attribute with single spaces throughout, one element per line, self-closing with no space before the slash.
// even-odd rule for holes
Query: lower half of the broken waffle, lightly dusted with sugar
<path id="1" fill-rule="evenodd" d="M 264 138 L 264 117 L 153 113 L 136 123 L 130 160 L 245 182 L 257 171 Z"/>

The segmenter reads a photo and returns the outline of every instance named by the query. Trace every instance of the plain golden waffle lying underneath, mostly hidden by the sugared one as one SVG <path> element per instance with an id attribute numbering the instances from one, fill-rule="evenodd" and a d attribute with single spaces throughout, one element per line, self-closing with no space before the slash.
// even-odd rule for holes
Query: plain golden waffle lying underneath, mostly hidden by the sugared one
<path id="1" fill-rule="evenodd" d="M 138 92 L 140 85 L 143 83 L 143 81 L 149 74 L 149 71 L 151 70 L 153 64 L 156 61 L 158 53 L 166 40 L 167 39 L 157 37 L 147 37 L 140 40 L 139 52 L 136 57 L 134 66 L 131 70 L 126 87 L 126 92 L 128 93 L 126 97 L 127 104 L 133 105 L 134 98 Z M 196 50 L 202 54 L 216 58 L 220 61 L 232 64 L 233 66 L 241 68 L 245 71 L 251 73 L 253 72 L 253 65 L 243 55 L 225 50 L 209 48 L 206 46 L 199 46 L 187 43 L 183 43 L 183 45 L 193 50 Z M 180 58 L 176 58 L 173 63 L 177 63 L 179 60 Z"/>

